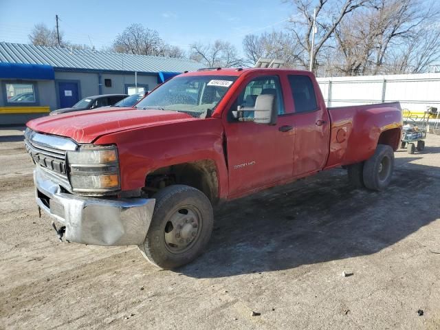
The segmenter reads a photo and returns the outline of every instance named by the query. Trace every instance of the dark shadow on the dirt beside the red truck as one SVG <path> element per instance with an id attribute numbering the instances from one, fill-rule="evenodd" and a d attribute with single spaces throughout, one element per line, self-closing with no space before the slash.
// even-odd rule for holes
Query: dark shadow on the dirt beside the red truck
<path id="1" fill-rule="evenodd" d="M 232 201 L 208 251 L 178 271 L 217 278 L 379 252 L 440 217 L 440 168 L 416 159 L 396 159 L 384 192 L 353 189 L 338 169 Z"/>

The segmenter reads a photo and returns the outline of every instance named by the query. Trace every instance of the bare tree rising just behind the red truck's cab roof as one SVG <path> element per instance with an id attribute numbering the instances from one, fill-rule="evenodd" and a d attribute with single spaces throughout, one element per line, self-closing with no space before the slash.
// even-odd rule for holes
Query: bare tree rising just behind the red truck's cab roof
<path id="1" fill-rule="evenodd" d="M 236 47 L 228 41 L 217 40 L 212 44 L 193 43 L 190 58 L 207 67 L 239 67 L 244 64 Z"/>

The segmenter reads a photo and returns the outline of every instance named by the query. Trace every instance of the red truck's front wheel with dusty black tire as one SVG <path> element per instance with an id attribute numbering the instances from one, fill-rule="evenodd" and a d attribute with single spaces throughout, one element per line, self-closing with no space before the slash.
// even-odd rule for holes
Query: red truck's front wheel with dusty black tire
<path id="1" fill-rule="evenodd" d="M 214 214 L 208 197 L 196 188 L 175 185 L 159 190 L 153 198 L 156 199 L 153 218 L 144 243 L 138 245 L 140 252 L 148 261 L 165 270 L 171 270 L 190 263 L 205 250 L 211 236 Z M 186 213 L 182 213 L 182 210 L 186 210 Z M 179 246 L 167 243 L 166 234 L 176 232 L 175 237 L 179 237 L 176 240 L 183 241 L 181 237 L 184 236 L 185 226 L 192 225 L 188 219 L 183 219 L 185 214 L 189 214 L 188 212 L 192 212 L 197 216 L 197 221 L 199 221 L 197 234 L 193 239 L 192 236 L 185 239 L 192 239 L 186 248 L 173 250 Z M 174 228 L 173 223 L 171 223 L 171 220 L 175 219 L 172 217 L 176 215 L 182 218 L 181 221 L 185 221 L 184 227 L 180 224 L 177 225 L 182 229 Z M 188 224 L 186 224 L 187 222 Z M 190 226 L 190 228 L 192 227 Z M 189 233 L 188 236 L 190 236 Z M 186 242 L 181 243 L 182 245 L 186 244 Z"/>

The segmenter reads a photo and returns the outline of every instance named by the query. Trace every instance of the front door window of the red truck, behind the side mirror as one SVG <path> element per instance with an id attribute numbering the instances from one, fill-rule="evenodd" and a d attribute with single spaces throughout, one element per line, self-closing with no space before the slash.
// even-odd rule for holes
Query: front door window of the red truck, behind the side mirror
<path id="1" fill-rule="evenodd" d="M 276 98 L 276 107 L 278 107 L 278 115 L 285 113 L 280 80 L 277 76 L 261 76 L 251 80 L 243 91 L 241 91 L 236 103 L 237 105 L 241 105 L 241 107 L 252 108 L 255 107 L 256 98 L 263 94 L 274 95 Z M 252 118 L 253 115 L 254 113 L 249 111 L 248 117 Z"/>

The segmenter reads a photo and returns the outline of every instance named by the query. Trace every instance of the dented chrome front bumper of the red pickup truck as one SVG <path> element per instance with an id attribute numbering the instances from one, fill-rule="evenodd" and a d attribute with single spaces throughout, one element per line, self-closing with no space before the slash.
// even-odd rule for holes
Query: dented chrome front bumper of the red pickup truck
<path id="1" fill-rule="evenodd" d="M 65 226 L 65 239 L 93 245 L 139 245 L 153 217 L 155 199 L 100 199 L 61 192 L 38 166 L 36 203 Z"/>

